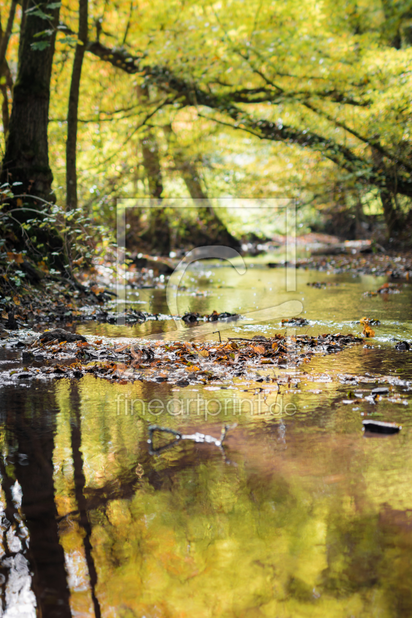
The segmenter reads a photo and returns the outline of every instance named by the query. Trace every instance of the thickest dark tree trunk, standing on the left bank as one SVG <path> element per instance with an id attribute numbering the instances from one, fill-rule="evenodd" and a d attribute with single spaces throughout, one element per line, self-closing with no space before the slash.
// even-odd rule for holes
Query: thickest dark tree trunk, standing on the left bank
<path id="1" fill-rule="evenodd" d="M 15 192 L 32 195 L 33 200 L 36 196 L 53 201 L 53 174 L 48 153 L 48 116 L 59 7 L 50 10 L 46 8 L 46 2 L 36 4 L 35 0 L 29 0 L 28 10 L 30 9 L 33 11 L 26 14 L 22 32 L 20 62 L 0 179 L 2 183 L 21 182 L 22 185 L 16 187 Z M 52 18 L 53 33 L 47 41 L 41 36 L 35 36 L 44 32 L 50 23 L 35 15 L 39 9 Z M 43 41 L 48 43 L 46 48 L 33 49 L 32 44 Z"/>

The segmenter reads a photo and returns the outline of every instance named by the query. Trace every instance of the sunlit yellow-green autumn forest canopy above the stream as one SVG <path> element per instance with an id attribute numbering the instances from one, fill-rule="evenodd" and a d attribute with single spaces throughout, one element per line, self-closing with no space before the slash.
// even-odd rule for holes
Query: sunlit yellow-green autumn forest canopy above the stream
<path id="1" fill-rule="evenodd" d="M 304 229 L 408 242 L 412 2 L 13 0 L 1 26 L 14 195 L 106 226 L 119 197 L 292 197 Z"/>

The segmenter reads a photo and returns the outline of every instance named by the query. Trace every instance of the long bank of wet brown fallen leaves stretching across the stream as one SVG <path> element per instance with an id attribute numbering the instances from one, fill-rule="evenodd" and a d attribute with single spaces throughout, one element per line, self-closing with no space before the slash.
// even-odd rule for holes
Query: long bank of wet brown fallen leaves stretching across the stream
<path id="1" fill-rule="evenodd" d="M 71 337 L 70 337 L 71 336 Z M 53 338 L 54 337 L 54 338 Z M 74 340 L 80 337 L 80 341 Z M 65 339 L 65 341 L 63 341 Z M 70 341 L 68 341 L 70 340 Z M 309 363 L 314 355 L 340 352 L 364 340 L 353 334 L 319 334 L 266 338 L 229 339 L 227 342 L 133 342 L 116 345 L 103 340 L 85 341 L 85 337 L 61 329 L 28 337 L 17 342 L 22 347 L 25 371 L 16 377 L 53 375 L 80 378 L 91 373 L 120 384 L 136 379 L 167 382 L 179 386 L 206 384 L 233 378 L 256 380 L 256 371 L 292 368 Z M 41 367 L 36 366 L 41 363 Z M 263 381 L 265 378 L 259 378 Z M 271 378 L 267 376 L 267 381 Z M 275 378 L 272 378 L 272 381 Z"/>

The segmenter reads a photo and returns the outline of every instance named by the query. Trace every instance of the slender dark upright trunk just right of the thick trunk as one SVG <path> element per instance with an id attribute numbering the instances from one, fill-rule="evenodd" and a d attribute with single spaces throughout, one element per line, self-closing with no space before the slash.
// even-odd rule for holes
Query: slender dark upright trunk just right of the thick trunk
<path id="1" fill-rule="evenodd" d="M 78 39 L 82 44 L 76 45 L 74 54 L 72 82 L 70 83 L 69 109 L 67 111 L 67 142 L 66 142 L 66 205 L 67 208 L 77 208 L 77 112 L 80 93 L 80 78 L 82 64 L 87 44 L 88 0 L 79 0 L 78 6 Z"/>

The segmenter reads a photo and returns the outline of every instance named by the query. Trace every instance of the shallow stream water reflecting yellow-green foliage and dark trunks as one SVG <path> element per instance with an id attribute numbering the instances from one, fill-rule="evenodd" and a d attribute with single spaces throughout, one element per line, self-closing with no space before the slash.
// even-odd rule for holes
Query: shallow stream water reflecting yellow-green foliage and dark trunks
<path id="1" fill-rule="evenodd" d="M 411 338 L 410 286 L 366 297 L 384 279 L 298 271 L 299 292 L 286 293 L 281 270 L 255 267 L 241 282 L 233 269 L 209 271 L 188 273 L 182 310 L 303 298 L 310 323 L 296 332 L 358 332 L 364 315 L 381 325 L 371 347 L 277 370 L 291 378 L 279 394 L 266 381 L 17 381 L 20 352 L 0 349 L 4 616 L 412 616 L 412 355 L 392 341 Z M 339 285 L 306 286 L 326 277 Z M 162 290 L 137 298 L 167 311 Z M 120 338 L 171 327 L 78 330 Z M 274 332 L 278 321 L 244 321 L 225 335 Z M 376 386 L 388 394 L 367 399 Z M 366 437 L 365 418 L 402 429 Z M 219 436 L 234 422 L 224 452 L 183 441 L 149 455 L 151 423 Z"/>

